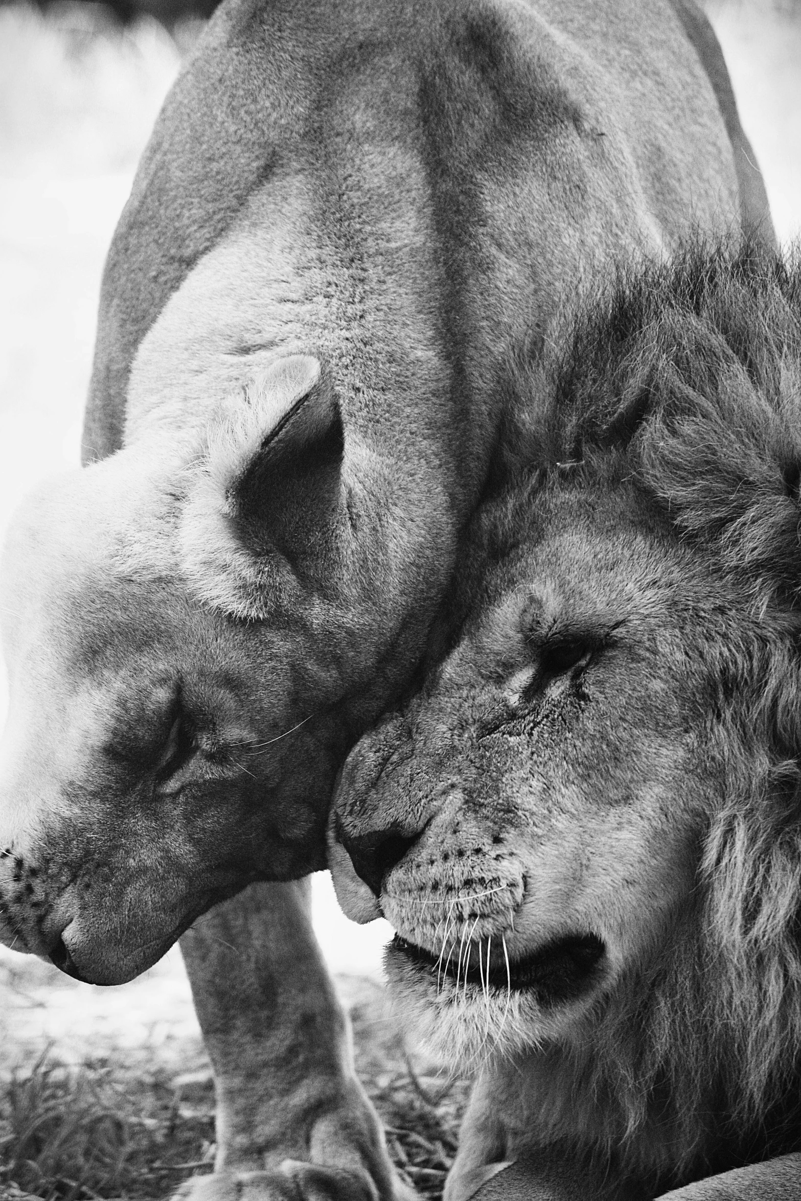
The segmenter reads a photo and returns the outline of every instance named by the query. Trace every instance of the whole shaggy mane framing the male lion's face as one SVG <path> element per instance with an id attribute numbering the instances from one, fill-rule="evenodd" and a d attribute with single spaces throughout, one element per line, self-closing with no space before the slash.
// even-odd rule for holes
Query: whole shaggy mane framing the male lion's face
<path id="1" fill-rule="evenodd" d="M 521 381 L 506 536 L 555 474 L 634 480 L 746 598 L 701 651 L 725 803 L 695 910 L 546 1101 L 563 1136 L 592 1098 L 597 1149 L 665 1188 L 801 1146 L 801 263 L 694 246 L 573 322 Z"/>

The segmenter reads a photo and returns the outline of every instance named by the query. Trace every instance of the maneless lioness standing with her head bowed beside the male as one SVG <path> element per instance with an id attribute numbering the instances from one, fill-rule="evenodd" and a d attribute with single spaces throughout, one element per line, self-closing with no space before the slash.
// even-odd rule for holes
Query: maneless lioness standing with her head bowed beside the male
<path id="1" fill-rule="evenodd" d="M 96 984 L 181 937 L 196 1191 L 397 1195 L 297 882 L 417 670 L 518 348 L 618 253 L 770 244 L 753 163 L 686 0 L 226 0 L 169 94 L 85 466 L 4 556 L 0 933 Z"/>

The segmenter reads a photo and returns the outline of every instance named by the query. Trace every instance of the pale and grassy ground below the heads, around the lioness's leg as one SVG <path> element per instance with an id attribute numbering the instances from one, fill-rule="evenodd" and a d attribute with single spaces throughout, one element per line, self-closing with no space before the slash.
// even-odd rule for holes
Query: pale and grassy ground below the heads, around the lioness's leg
<path id="1" fill-rule="evenodd" d="M 336 984 L 390 1154 L 438 1199 L 468 1085 L 411 1047 L 377 981 Z M 8 954 L 0 998 L 0 1197 L 162 1199 L 211 1170 L 211 1071 L 177 951 L 121 988 Z"/>

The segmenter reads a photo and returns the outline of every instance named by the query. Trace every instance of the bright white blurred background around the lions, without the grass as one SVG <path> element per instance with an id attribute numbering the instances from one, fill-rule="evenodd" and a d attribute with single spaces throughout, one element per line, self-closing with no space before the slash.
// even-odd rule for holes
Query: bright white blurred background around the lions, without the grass
<path id="1" fill-rule="evenodd" d="M 78 462 L 103 257 L 162 98 L 214 7 L 0 4 L 0 533 L 38 478 Z M 715 0 L 709 12 L 787 244 L 801 233 L 801 0 Z M 0 721 L 4 705 L 0 677 Z M 340 978 L 378 979 L 389 927 L 348 922 L 324 874 L 315 924 Z M 0 1072 L 48 1046 L 74 1063 L 112 1045 L 180 1058 L 197 1032 L 175 949 L 108 990 L 4 949 L 0 1010 Z"/>

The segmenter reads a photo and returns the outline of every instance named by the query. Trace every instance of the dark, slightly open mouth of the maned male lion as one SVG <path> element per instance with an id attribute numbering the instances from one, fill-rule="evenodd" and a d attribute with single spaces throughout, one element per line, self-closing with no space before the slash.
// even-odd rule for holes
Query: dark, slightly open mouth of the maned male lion
<path id="1" fill-rule="evenodd" d="M 572 1000 L 586 992 L 599 975 L 604 952 L 603 942 L 594 934 L 558 938 L 526 958 L 509 960 L 508 964 L 506 960 L 502 963 L 490 962 L 483 964 L 483 969 L 472 955 L 467 962 L 465 956 L 461 962 L 454 962 L 454 956 L 446 961 L 442 956 L 408 943 L 400 934 L 395 934 L 388 951 L 412 970 L 434 976 L 437 986 L 444 978 L 449 978 L 460 985 L 474 985 L 482 991 L 491 988 L 503 994 L 508 990 L 536 992 L 542 1004 L 551 1005 Z"/>

